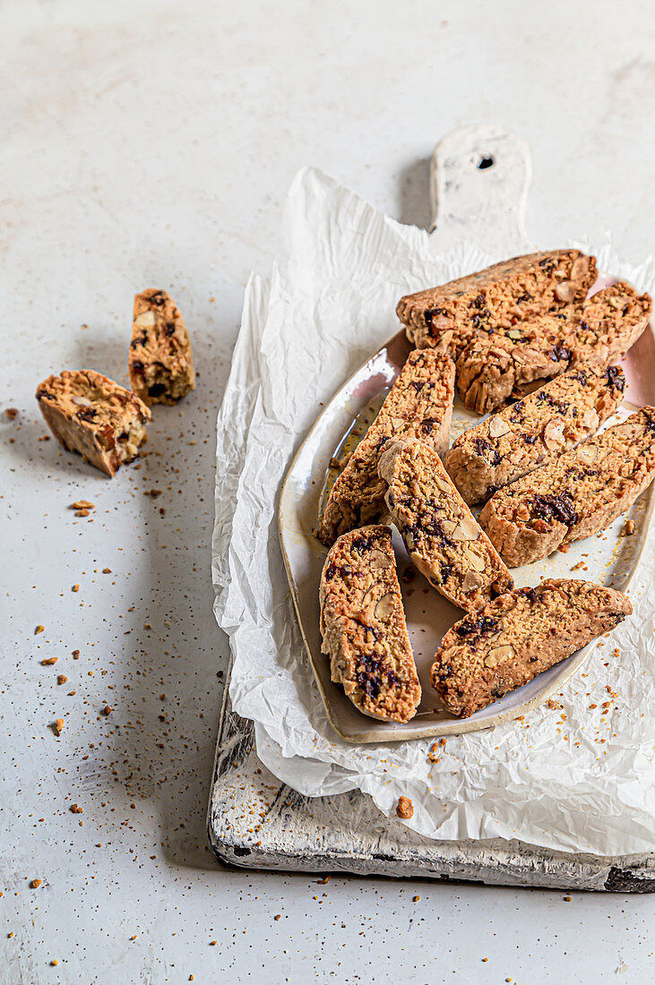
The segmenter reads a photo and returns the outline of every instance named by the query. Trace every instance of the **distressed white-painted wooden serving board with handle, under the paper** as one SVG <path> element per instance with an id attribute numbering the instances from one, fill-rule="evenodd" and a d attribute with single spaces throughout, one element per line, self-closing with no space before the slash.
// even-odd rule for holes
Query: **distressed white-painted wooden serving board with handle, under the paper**
<path id="1" fill-rule="evenodd" d="M 530 171 L 526 144 L 508 130 L 465 127 L 445 137 L 432 158 L 435 252 L 462 240 L 506 256 L 531 251 L 524 230 Z M 253 723 L 231 710 L 228 690 L 208 813 L 209 842 L 225 864 L 497 886 L 655 891 L 655 852 L 599 857 L 520 840 L 433 841 L 385 818 L 359 790 L 303 797 L 259 761 Z"/>

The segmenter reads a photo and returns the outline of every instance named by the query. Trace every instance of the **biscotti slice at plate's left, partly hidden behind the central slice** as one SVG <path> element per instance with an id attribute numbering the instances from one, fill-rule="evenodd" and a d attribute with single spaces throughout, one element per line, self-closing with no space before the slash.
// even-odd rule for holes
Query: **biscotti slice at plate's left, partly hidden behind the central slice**
<path id="1" fill-rule="evenodd" d="M 320 522 L 321 541 L 372 523 L 384 513 L 386 486 L 377 475 L 380 450 L 392 437 L 420 437 L 438 454 L 448 447 L 455 363 L 440 353 L 410 353 L 346 468 L 335 482 Z"/>

